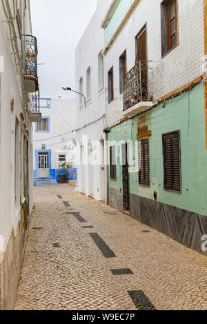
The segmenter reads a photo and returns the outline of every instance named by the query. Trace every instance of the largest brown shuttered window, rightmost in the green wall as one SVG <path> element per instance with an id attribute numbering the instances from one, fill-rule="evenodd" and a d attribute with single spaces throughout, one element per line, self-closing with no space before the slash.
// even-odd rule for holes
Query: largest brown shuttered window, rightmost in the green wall
<path id="1" fill-rule="evenodd" d="M 164 189 L 181 192 L 179 131 L 163 135 Z"/>

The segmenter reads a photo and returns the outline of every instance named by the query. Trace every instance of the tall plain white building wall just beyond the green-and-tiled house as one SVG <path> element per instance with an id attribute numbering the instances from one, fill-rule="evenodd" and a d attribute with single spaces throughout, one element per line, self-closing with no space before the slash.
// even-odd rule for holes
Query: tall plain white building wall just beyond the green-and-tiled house
<path id="1" fill-rule="evenodd" d="M 77 166 L 78 190 L 97 200 L 106 199 L 105 168 L 101 163 L 105 134 L 105 88 L 99 86 L 99 53 L 103 50 L 103 30 L 101 21 L 110 5 L 110 0 L 99 0 L 97 10 L 86 31 L 83 33 L 75 51 L 76 90 L 80 91 L 79 80 L 83 80 L 83 94 L 86 96 L 86 108 L 80 107 L 77 96 Z M 87 70 L 90 67 L 90 100 L 87 98 Z M 90 165 L 90 152 L 95 165 Z M 104 157 L 103 157 L 104 158 Z M 100 161 L 101 160 L 101 161 Z M 78 159 L 77 159 L 78 161 Z"/>

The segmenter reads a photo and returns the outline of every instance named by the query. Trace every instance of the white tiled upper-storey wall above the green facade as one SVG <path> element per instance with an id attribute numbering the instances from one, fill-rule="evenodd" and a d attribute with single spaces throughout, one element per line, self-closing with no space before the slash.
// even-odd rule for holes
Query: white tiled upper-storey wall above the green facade
<path id="1" fill-rule="evenodd" d="M 105 79 L 108 79 L 108 71 L 113 66 L 115 90 L 115 100 L 109 105 L 106 91 L 107 125 L 123 117 L 122 94 L 119 94 L 119 57 L 126 50 L 127 70 L 135 65 L 135 37 L 145 24 L 147 59 L 153 61 L 150 63 L 153 70 L 149 76 L 149 92 L 152 92 L 154 100 L 203 74 L 201 69 L 204 57 L 203 0 L 177 1 L 178 45 L 163 59 L 161 59 L 161 2 L 162 0 L 140 0 L 106 52 Z"/>

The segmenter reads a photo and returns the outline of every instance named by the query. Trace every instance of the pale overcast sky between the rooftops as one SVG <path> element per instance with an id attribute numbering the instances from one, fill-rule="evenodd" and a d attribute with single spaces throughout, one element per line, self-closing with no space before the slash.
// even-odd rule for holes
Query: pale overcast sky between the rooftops
<path id="1" fill-rule="evenodd" d="M 32 32 L 37 37 L 40 96 L 75 98 L 62 85 L 75 88 L 75 48 L 97 0 L 30 0 Z"/>

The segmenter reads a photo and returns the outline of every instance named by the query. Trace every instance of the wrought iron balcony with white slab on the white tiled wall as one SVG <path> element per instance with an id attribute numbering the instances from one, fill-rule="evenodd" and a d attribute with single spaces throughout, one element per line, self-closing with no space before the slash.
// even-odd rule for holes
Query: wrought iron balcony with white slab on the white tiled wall
<path id="1" fill-rule="evenodd" d="M 123 85 L 124 116 L 135 116 L 152 107 L 152 95 L 148 93 L 149 61 L 138 61 L 126 74 Z"/>

